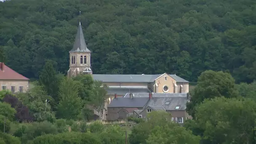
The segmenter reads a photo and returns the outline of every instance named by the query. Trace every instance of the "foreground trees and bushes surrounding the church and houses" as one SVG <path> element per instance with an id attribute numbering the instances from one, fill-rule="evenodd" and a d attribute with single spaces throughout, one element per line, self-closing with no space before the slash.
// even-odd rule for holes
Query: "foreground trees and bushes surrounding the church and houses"
<path id="1" fill-rule="evenodd" d="M 27 93 L 0 91 L 1 144 L 255 143 L 256 83 L 237 85 L 226 72 L 208 70 L 198 77 L 187 104 L 193 120 L 184 126 L 161 111 L 146 121 L 91 121 L 93 109 L 101 114 L 107 87 L 90 75 L 67 79 L 51 61 L 39 77 Z"/>

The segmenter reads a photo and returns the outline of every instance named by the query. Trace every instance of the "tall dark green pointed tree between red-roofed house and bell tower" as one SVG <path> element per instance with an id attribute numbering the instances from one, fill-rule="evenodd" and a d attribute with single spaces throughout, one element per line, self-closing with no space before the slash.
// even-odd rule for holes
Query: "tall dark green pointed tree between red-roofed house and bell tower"
<path id="1" fill-rule="evenodd" d="M 55 106 L 59 102 L 58 92 L 60 81 L 56 69 L 53 67 L 53 62 L 46 61 L 43 70 L 40 72 L 39 84 L 43 85 L 47 94 L 53 98 L 54 102 L 51 101 L 52 106 Z"/>

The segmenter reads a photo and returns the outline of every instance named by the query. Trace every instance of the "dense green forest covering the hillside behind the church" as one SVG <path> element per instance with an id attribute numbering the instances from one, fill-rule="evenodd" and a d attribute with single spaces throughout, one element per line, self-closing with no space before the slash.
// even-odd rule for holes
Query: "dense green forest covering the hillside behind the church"
<path id="1" fill-rule="evenodd" d="M 196 81 L 212 69 L 238 83 L 256 80 L 255 0 L 0 2 L 0 60 L 29 78 L 47 59 L 66 73 L 79 19 L 95 74 L 168 72 Z"/>

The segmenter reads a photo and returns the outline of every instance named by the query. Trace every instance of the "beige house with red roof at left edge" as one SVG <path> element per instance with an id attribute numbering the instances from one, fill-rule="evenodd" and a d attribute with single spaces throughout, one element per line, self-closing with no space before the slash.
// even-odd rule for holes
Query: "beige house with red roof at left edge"
<path id="1" fill-rule="evenodd" d="M 0 91 L 26 92 L 29 87 L 29 79 L 0 62 L 0 86 Z"/>

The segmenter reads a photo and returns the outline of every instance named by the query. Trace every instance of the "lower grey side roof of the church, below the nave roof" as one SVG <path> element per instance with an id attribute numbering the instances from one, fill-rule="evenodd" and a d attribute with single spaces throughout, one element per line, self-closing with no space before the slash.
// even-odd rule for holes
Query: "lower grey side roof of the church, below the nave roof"
<path id="1" fill-rule="evenodd" d="M 148 88 L 107 88 L 107 93 L 125 95 L 126 93 L 151 93 L 151 91 Z"/>

